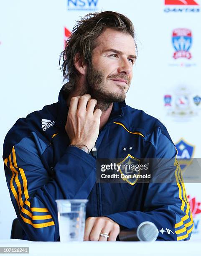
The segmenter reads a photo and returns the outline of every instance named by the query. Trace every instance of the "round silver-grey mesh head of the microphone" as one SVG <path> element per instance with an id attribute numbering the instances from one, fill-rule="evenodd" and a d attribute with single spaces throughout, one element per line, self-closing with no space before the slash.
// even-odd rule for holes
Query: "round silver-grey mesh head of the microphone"
<path id="1" fill-rule="evenodd" d="M 137 227 L 137 237 L 140 241 L 155 241 L 158 233 L 158 228 L 150 221 L 144 221 Z"/>

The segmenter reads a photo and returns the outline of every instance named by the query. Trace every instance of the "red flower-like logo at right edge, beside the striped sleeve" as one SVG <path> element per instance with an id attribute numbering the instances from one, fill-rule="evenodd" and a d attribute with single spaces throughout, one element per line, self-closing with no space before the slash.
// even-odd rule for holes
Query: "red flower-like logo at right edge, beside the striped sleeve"
<path id="1" fill-rule="evenodd" d="M 191 208 L 191 212 L 193 215 L 193 222 L 194 222 L 194 228 L 193 228 L 193 235 L 198 235 L 200 233 L 200 230 L 198 228 L 199 226 L 199 222 L 201 220 L 201 202 L 197 202 L 196 201 L 196 197 L 191 197 L 190 195 L 188 195 L 188 202 Z"/>

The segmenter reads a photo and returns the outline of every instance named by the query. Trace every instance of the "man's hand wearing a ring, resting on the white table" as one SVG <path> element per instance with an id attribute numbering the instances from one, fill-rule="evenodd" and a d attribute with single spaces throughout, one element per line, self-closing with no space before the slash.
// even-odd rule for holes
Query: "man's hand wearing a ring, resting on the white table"
<path id="1" fill-rule="evenodd" d="M 109 234 L 109 238 L 100 236 Z M 89 217 L 85 223 L 84 241 L 116 241 L 120 233 L 120 226 L 107 217 Z"/>

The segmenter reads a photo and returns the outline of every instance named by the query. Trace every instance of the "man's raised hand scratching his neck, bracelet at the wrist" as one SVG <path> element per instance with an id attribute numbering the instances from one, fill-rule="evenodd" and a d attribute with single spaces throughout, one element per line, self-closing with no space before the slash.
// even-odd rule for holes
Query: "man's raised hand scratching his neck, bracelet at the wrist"
<path id="1" fill-rule="evenodd" d="M 102 111 L 99 108 L 94 111 L 96 105 L 97 100 L 89 94 L 72 97 L 65 126 L 71 144 L 84 144 L 89 151 L 99 134 Z"/>

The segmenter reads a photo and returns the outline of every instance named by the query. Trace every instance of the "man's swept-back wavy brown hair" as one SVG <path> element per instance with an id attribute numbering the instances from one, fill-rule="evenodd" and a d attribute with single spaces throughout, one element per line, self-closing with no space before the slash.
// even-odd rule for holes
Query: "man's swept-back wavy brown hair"
<path id="1" fill-rule="evenodd" d="M 84 64 L 92 64 L 92 51 L 96 47 L 97 38 L 106 28 L 117 29 L 132 36 L 135 42 L 134 26 L 129 18 L 116 12 L 89 13 L 77 21 L 68 40 L 66 40 L 65 50 L 59 57 L 60 69 L 63 71 L 64 92 L 69 93 L 74 90 L 79 72 L 74 66 L 74 57 L 78 53 L 84 60 Z M 137 44 L 135 42 L 136 50 Z M 61 59 L 63 59 L 61 64 Z"/>

